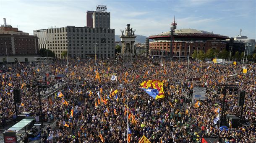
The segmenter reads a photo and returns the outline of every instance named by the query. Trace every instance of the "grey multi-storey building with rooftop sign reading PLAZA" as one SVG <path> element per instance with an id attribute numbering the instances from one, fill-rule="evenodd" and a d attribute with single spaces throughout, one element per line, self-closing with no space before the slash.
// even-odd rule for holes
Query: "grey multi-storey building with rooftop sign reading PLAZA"
<path id="1" fill-rule="evenodd" d="M 67 48 L 68 58 L 94 58 L 95 54 L 101 59 L 114 58 L 115 29 L 110 28 L 110 13 L 87 11 L 86 25 L 34 30 L 34 35 L 39 38 L 39 48 L 53 51 L 60 59 Z"/>

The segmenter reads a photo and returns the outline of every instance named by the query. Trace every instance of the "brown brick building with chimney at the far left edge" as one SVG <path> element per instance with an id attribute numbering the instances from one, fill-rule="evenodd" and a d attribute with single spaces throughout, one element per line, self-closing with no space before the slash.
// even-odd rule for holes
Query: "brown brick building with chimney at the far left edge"
<path id="1" fill-rule="evenodd" d="M 37 36 L 30 36 L 29 33 L 7 25 L 4 18 L 4 24 L 0 27 L 0 62 L 34 61 L 37 54 Z"/>

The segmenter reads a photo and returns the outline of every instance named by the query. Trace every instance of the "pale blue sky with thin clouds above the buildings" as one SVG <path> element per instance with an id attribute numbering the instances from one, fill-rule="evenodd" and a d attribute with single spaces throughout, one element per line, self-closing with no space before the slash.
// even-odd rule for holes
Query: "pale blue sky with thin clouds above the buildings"
<path id="1" fill-rule="evenodd" d="M 177 29 L 194 28 L 234 37 L 256 39 L 256 0 L 0 0 L 3 18 L 19 30 L 51 26 L 86 26 L 86 10 L 107 5 L 110 28 L 121 35 L 126 24 L 135 34 L 151 36 L 170 31 L 175 16 Z"/>

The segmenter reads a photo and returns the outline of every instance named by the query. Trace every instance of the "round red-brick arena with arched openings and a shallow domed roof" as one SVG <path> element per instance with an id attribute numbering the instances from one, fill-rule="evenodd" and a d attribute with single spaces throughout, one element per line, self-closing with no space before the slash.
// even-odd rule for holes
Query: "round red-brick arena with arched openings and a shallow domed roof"
<path id="1" fill-rule="evenodd" d="M 149 36 L 149 39 L 153 40 L 149 43 L 149 54 L 152 56 L 162 56 L 163 50 L 163 56 L 170 56 L 170 37 L 170 31 Z M 172 56 L 188 57 L 190 42 L 193 42 L 190 46 L 190 57 L 198 50 L 203 50 L 204 53 L 206 53 L 208 49 L 222 51 L 226 48 L 226 43 L 222 42 L 222 40 L 227 38 L 227 36 L 221 36 L 219 34 L 214 34 L 213 32 L 211 33 L 197 29 L 175 29 L 172 44 Z"/>

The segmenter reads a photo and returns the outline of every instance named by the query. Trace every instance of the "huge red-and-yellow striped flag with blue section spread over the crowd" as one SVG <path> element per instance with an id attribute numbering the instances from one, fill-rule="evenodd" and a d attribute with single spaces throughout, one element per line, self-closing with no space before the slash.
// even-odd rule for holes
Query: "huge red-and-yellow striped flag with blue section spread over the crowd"
<path id="1" fill-rule="evenodd" d="M 154 99 L 165 97 L 164 84 L 160 80 L 147 80 L 142 82 L 140 85 L 140 88 L 145 90 L 146 93 Z"/>

